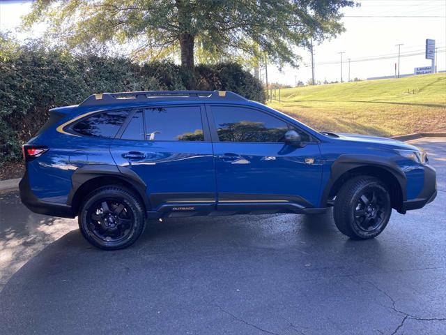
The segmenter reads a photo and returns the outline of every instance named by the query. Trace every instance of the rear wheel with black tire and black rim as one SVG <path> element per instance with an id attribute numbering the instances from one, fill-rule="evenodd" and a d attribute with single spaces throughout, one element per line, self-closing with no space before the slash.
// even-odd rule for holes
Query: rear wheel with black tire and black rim
<path id="1" fill-rule="evenodd" d="M 144 207 L 122 186 L 103 186 L 86 196 L 79 210 L 79 229 L 93 246 L 104 250 L 127 248 L 144 231 Z"/>

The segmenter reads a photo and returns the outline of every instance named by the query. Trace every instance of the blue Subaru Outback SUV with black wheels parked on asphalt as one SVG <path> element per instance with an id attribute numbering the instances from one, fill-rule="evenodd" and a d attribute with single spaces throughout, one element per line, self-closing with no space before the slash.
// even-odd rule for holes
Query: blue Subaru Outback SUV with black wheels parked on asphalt
<path id="1" fill-rule="evenodd" d="M 93 94 L 50 112 L 23 146 L 22 202 L 78 216 L 99 248 L 130 246 L 149 218 L 331 206 L 342 233 L 370 239 L 392 208 L 405 214 L 436 197 L 436 172 L 421 149 L 318 133 L 229 91 Z"/>

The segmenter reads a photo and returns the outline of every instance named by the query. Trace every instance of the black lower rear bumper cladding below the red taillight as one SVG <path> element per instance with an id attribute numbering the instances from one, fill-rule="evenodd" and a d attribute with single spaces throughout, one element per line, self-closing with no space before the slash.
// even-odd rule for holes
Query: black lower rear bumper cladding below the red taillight
<path id="1" fill-rule="evenodd" d="M 72 208 L 68 204 L 57 204 L 55 202 L 47 202 L 39 200 L 29 185 L 28 171 L 25 172 L 22 180 L 19 183 L 20 198 L 22 203 L 34 213 L 60 216 L 62 218 L 74 218 Z"/>

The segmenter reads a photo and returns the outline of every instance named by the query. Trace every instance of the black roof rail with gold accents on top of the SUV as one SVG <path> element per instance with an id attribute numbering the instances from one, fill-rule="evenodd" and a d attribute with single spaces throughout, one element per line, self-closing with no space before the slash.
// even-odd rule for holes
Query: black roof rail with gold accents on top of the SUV
<path id="1" fill-rule="evenodd" d="M 100 106 L 123 103 L 148 103 L 157 101 L 247 101 L 231 91 L 137 91 L 92 94 L 79 106 Z"/>

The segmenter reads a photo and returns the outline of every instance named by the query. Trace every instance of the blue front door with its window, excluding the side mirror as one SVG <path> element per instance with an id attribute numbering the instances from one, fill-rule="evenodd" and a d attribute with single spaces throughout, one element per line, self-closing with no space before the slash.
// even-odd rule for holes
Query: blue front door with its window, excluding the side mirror
<path id="1" fill-rule="evenodd" d="M 284 202 L 298 208 L 317 206 L 322 169 L 318 144 L 309 134 L 251 107 L 211 105 L 208 115 L 219 209 L 224 204 L 275 207 Z M 304 146 L 284 143 L 291 128 L 300 133 Z"/>

